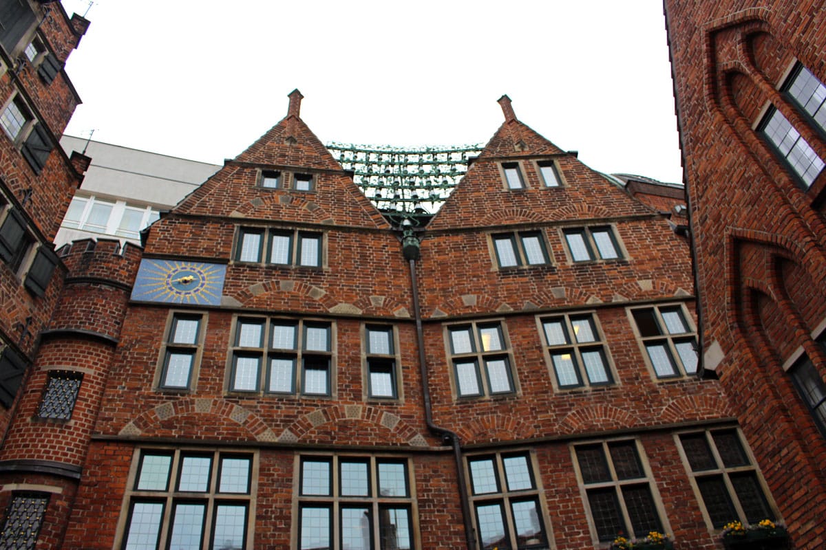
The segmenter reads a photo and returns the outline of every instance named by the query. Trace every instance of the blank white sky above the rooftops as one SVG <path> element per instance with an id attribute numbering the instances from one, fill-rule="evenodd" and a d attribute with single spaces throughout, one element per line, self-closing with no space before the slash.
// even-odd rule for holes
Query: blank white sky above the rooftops
<path id="1" fill-rule="evenodd" d="M 67 134 L 221 164 L 298 88 L 324 143 L 485 143 L 506 93 L 596 170 L 682 179 L 662 0 L 96 0 L 88 19 Z"/>

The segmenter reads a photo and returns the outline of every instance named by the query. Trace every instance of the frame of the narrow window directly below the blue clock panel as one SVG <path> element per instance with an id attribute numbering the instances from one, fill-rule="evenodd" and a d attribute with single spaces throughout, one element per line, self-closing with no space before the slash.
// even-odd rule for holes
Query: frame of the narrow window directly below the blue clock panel
<path id="1" fill-rule="evenodd" d="M 169 311 L 166 327 L 164 327 L 164 341 L 160 348 L 158 366 L 154 381 L 156 391 L 164 393 L 191 393 L 197 389 L 198 376 L 201 371 L 201 360 L 203 355 L 204 342 L 207 338 L 207 322 L 209 314 L 192 310 L 173 309 Z M 178 322 L 195 321 L 197 328 L 195 341 L 176 342 L 174 341 L 175 331 Z M 189 363 L 189 373 L 185 386 L 173 386 L 167 384 L 169 375 L 169 361 L 173 355 L 188 355 L 191 357 Z"/>

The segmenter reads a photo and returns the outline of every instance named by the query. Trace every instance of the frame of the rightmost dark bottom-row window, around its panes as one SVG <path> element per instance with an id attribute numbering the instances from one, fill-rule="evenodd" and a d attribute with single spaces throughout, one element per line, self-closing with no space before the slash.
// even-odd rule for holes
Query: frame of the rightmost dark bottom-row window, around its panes
<path id="1" fill-rule="evenodd" d="M 719 452 L 717 442 L 714 440 L 714 436 L 712 435 L 713 433 L 724 432 L 732 433 L 733 435 L 735 435 L 735 437 L 738 440 L 739 447 L 743 451 L 743 458 L 745 458 L 748 461 L 748 463 L 739 466 L 725 465 L 724 458 L 721 458 L 722 455 Z M 703 435 L 705 437 L 705 444 L 707 445 L 707 448 L 710 450 L 711 457 L 714 459 L 716 463 L 716 468 L 705 468 L 697 471 L 692 469 L 691 463 L 686 454 L 686 449 L 683 447 L 682 437 L 697 435 Z M 770 518 L 755 519 L 753 523 L 756 524 L 761 519 L 771 519 L 773 521 L 778 521 L 781 519 L 780 511 L 777 509 L 777 506 L 771 497 L 771 491 L 769 491 L 766 480 L 763 478 L 762 472 L 760 471 L 760 468 L 757 466 L 757 461 L 755 460 L 754 455 L 752 454 L 752 449 L 748 446 L 748 441 L 746 441 L 745 437 L 743 436 L 743 432 L 737 426 L 719 426 L 706 430 L 681 430 L 679 432 L 674 433 L 674 443 L 676 444 L 676 449 L 683 463 L 683 467 L 686 468 L 686 475 L 689 478 L 689 482 L 691 482 L 691 489 L 692 491 L 694 491 L 694 496 L 697 501 L 697 505 L 700 506 L 700 511 L 702 512 L 706 528 L 709 530 L 710 533 L 719 534 L 724 529 L 724 525 L 727 524 L 729 521 L 738 520 L 742 522 L 743 525 L 749 524 L 746 513 L 743 510 L 743 505 L 740 501 L 740 497 L 737 495 L 737 491 L 734 489 L 733 484 L 731 482 L 731 473 L 733 473 L 735 477 L 737 477 L 738 474 L 741 476 L 743 476 L 743 474 L 752 474 L 757 481 L 757 487 L 762 491 L 763 504 L 766 505 L 767 510 L 773 515 L 773 517 Z M 719 525 L 714 525 L 714 520 L 710 516 L 708 508 L 703 499 L 702 492 L 700 491 L 700 486 L 697 482 L 698 478 L 704 477 L 722 477 L 725 490 L 728 493 L 727 496 L 729 499 L 729 504 L 732 505 L 733 511 L 737 517 L 732 517 L 725 521 L 719 521 L 717 522 Z"/>

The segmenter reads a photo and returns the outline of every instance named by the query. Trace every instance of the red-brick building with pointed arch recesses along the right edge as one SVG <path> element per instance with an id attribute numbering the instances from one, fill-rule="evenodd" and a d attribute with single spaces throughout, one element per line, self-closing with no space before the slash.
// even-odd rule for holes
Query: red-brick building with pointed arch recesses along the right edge
<path id="1" fill-rule="evenodd" d="M 665 2 L 706 374 L 826 546 L 824 2 Z"/>

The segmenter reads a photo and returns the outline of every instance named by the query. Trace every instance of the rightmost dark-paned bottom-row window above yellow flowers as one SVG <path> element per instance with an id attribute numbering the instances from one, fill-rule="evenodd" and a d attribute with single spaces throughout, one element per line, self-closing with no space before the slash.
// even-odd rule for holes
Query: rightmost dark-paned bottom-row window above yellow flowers
<path id="1" fill-rule="evenodd" d="M 705 430 L 677 439 L 706 521 L 714 529 L 735 519 L 744 524 L 776 519 L 738 430 Z"/>

